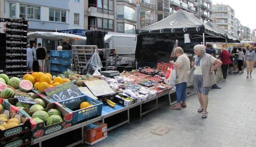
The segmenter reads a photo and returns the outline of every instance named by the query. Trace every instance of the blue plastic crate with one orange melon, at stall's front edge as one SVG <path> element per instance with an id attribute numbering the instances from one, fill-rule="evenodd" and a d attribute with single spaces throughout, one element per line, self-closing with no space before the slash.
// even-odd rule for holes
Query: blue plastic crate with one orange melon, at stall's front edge
<path id="1" fill-rule="evenodd" d="M 89 102 L 93 106 L 80 109 L 80 103 L 82 102 Z M 101 116 L 102 113 L 102 102 L 95 100 L 87 95 L 78 96 L 76 98 L 70 98 L 68 100 L 62 100 L 58 103 L 65 105 L 68 109 L 72 111 L 72 124 L 84 122 L 86 120 Z M 78 110 L 74 110 L 77 108 Z"/>

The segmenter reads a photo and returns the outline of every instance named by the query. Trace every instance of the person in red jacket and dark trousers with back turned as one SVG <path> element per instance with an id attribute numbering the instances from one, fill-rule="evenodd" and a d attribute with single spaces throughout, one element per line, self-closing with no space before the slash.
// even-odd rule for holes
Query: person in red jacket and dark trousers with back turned
<path id="1" fill-rule="evenodd" d="M 232 61 L 230 60 L 230 54 L 228 53 L 228 51 L 225 48 L 223 48 L 223 49 L 221 49 L 219 58 L 221 59 L 221 62 L 222 62 L 221 70 L 222 70 L 222 75 L 223 75 L 223 81 L 226 81 L 226 77 L 228 74 L 228 66 L 230 64 L 232 64 Z"/>

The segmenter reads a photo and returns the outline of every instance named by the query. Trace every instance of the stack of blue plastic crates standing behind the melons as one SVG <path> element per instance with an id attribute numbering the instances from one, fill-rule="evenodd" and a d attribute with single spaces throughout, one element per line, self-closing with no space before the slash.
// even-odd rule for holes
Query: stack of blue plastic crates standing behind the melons
<path id="1" fill-rule="evenodd" d="M 71 69 L 71 51 L 50 51 L 50 63 L 52 75 Z"/>

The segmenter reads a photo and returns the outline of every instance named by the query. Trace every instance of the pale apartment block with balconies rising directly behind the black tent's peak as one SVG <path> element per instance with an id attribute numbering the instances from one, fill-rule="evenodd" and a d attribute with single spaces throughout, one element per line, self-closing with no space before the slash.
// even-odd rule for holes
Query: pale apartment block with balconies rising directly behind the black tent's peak
<path id="1" fill-rule="evenodd" d="M 202 22 L 213 22 L 211 5 L 211 0 L 170 0 L 171 14 L 183 9 L 194 14 Z"/>

